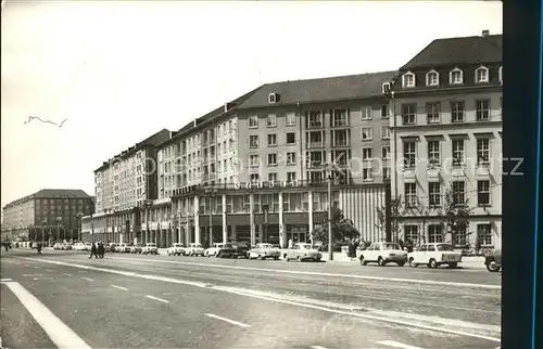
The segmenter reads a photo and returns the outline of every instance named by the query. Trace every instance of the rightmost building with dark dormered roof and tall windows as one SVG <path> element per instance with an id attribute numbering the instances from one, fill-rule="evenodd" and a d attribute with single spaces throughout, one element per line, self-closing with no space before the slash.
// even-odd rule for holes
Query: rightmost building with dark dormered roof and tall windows
<path id="1" fill-rule="evenodd" d="M 400 69 L 388 95 L 403 238 L 501 248 L 502 74 L 502 36 L 488 31 L 434 40 Z"/>

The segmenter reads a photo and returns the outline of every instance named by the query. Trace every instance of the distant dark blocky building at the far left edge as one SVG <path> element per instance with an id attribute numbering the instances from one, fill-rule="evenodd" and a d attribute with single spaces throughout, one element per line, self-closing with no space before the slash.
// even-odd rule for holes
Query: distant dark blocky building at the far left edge
<path id="1" fill-rule="evenodd" d="M 3 207 L 2 237 L 12 240 L 77 240 L 80 219 L 94 212 L 81 190 L 45 189 Z"/>

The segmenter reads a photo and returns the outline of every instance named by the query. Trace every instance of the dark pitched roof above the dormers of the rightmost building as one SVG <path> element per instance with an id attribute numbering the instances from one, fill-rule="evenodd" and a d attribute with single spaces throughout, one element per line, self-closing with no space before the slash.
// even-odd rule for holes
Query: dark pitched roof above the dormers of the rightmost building
<path id="1" fill-rule="evenodd" d="M 502 62 L 502 35 L 433 40 L 400 70 Z"/>

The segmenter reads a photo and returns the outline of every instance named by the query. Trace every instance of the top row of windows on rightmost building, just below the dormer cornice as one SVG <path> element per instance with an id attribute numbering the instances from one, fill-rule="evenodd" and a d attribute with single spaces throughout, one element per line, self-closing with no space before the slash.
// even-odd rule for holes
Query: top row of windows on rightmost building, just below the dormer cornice
<path id="1" fill-rule="evenodd" d="M 493 119 L 491 114 L 491 100 L 480 99 L 476 100 L 476 121 L 490 121 Z M 466 121 L 466 102 L 465 101 L 452 101 L 451 103 L 451 121 L 452 122 L 465 122 Z M 441 104 L 442 102 L 429 102 L 426 104 L 426 116 L 428 124 L 440 124 L 441 122 Z M 417 124 L 417 104 L 407 103 L 402 104 L 402 125 L 416 125 Z M 500 116 L 502 117 L 502 98 L 500 98 Z"/>

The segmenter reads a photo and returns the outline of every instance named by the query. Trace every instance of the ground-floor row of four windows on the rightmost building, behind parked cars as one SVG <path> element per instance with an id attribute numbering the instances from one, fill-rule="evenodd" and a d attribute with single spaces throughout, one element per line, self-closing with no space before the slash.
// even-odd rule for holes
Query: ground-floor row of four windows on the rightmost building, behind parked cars
<path id="1" fill-rule="evenodd" d="M 442 224 L 428 224 L 428 236 L 420 236 L 419 225 L 406 224 L 404 227 L 404 235 L 405 241 L 412 241 L 415 244 L 422 243 L 421 238 L 427 243 L 444 243 L 444 229 Z M 468 243 L 468 232 L 464 229 L 460 230 L 454 236 L 453 244 L 455 246 L 466 246 Z M 481 245 L 491 246 L 493 245 L 493 234 L 492 234 L 492 225 L 489 223 L 479 223 L 477 224 L 477 238 L 481 243 Z"/>

